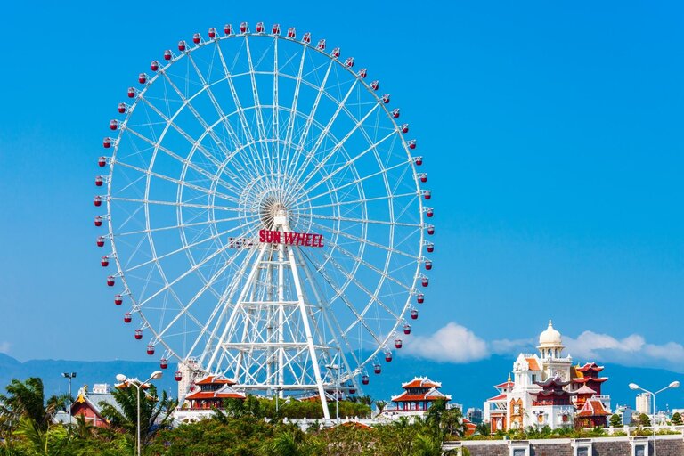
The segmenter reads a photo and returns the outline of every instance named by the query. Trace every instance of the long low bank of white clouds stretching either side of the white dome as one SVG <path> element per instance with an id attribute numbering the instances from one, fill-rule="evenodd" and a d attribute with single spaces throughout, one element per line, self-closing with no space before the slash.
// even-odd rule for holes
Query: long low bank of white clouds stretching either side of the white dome
<path id="1" fill-rule="evenodd" d="M 418 336 L 407 342 L 408 354 L 439 362 L 473 362 L 490 354 L 515 355 L 536 351 L 533 338 L 485 341 L 456 322 L 447 323 L 431 336 Z M 657 345 L 648 343 L 639 334 L 615 338 L 586 330 L 577 338 L 563 336 L 563 344 L 565 353 L 572 355 L 577 362 L 613 362 L 684 371 L 684 346 L 676 342 Z"/>

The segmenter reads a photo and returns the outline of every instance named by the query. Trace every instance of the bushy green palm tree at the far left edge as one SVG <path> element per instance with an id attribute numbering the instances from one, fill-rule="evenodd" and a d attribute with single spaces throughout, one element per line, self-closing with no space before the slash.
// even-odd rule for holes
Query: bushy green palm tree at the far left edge
<path id="1" fill-rule="evenodd" d="M 5 388 L 7 395 L 0 395 L 0 416 L 5 425 L 14 428 L 22 417 L 32 419 L 40 431 L 47 431 L 57 411 L 70 403 L 69 395 L 50 396 L 45 402 L 43 380 L 30 377 L 25 381 L 12 379 Z"/>

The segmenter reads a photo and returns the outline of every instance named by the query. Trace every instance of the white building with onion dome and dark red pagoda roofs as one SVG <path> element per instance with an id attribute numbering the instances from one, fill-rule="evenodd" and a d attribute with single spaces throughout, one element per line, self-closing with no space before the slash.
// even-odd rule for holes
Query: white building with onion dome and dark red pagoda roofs
<path id="1" fill-rule="evenodd" d="M 513 379 L 509 375 L 507 381 L 494 386 L 498 394 L 485 401 L 484 420 L 490 423 L 492 433 L 529 426 L 573 427 L 580 410 L 584 414 L 578 426 L 585 422 L 605 426 L 610 396 L 601 394 L 607 378 L 599 377 L 599 372 L 604 368 L 595 362 L 575 366 L 573 358 L 563 354 L 564 349 L 560 332 L 549 321 L 539 335 L 538 353 L 519 354 L 513 362 Z M 590 404 L 584 410 L 590 400 L 598 400 L 601 407 Z M 596 415 L 590 415 L 593 411 Z"/>

